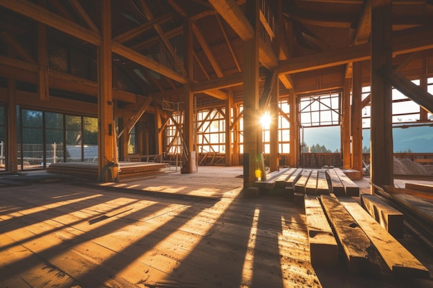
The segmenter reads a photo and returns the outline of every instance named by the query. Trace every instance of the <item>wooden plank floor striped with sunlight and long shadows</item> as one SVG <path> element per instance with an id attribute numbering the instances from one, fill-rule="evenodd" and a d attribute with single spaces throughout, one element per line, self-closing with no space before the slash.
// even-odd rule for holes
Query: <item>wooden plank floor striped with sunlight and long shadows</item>
<path id="1" fill-rule="evenodd" d="M 433 287 L 385 265 L 373 279 L 351 276 L 343 260 L 312 267 L 302 207 L 244 197 L 241 174 L 206 166 L 110 185 L 5 178 L 0 287 Z M 410 235 L 403 244 L 432 275 L 433 256 Z"/>

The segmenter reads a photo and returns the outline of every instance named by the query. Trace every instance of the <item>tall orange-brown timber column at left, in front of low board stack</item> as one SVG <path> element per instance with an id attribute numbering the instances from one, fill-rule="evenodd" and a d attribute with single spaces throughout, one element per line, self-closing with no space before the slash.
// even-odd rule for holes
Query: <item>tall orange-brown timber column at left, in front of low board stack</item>
<path id="1" fill-rule="evenodd" d="M 111 60 L 111 1 L 100 1 L 102 41 L 98 49 L 98 179 L 118 180 L 116 128 L 113 121 L 113 74 Z"/>

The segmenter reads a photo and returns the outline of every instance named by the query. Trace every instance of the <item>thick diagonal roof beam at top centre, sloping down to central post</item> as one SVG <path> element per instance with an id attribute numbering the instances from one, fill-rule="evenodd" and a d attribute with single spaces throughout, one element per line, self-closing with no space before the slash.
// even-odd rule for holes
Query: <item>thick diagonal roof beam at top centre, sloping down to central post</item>
<path id="1" fill-rule="evenodd" d="M 237 3 L 233 0 L 209 0 L 219 15 L 228 23 L 228 25 L 241 37 L 243 41 L 253 39 L 255 30 L 251 26 L 247 17 Z"/>

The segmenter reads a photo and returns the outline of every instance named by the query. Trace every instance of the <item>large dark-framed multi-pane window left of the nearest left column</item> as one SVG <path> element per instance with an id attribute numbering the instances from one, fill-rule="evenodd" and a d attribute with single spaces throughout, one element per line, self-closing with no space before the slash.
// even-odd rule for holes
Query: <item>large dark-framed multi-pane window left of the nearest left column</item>
<path id="1" fill-rule="evenodd" d="M 98 160 L 98 119 L 26 108 L 18 110 L 19 170 Z"/>

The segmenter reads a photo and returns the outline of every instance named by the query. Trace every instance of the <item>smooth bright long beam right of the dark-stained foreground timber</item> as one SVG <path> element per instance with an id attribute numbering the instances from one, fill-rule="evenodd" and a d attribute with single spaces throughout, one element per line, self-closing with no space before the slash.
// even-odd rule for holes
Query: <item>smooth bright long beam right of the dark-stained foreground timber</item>
<path id="1" fill-rule="evenodd" d="M 340 198 L 340 202 L 349 211 L 351 217 L 356 220 L 362 231 L 367 234 L 394 275 L 399 277 L 430 277 L 428 269 L 383 229 L 374 218 L 371 218 L 358 202 L 349 197 Z"/>

